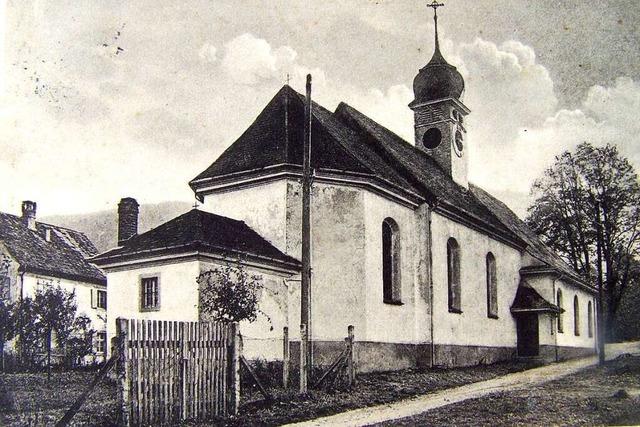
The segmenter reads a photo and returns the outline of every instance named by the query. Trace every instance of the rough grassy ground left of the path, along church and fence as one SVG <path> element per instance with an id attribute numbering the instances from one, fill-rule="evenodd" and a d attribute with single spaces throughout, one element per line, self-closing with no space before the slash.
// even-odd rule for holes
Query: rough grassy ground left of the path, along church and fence
<path id="1" fill-rule="evenodd" d="M 243 390 L 240 415 L 215 420 L 216 425 L 278 425 L 482 381 L 521 371 L 530 366 L 498 363 L 459 369 L 406 370 L 364 374 L 351 390 L 314 390 L 300 397 L 295 389 L 271 389 L 275 399 L 265 402 L 253 388 Z M 51 382 L 45 373 L 0 374 L 0 425 L 45 426 L 59 420 L 91 381 L 95 372 L 54 372 Z M 98 385 L 73 420 L 74 425 L 107 426 L 116 420 L 115 383 Z M 185 423 L 185 425 L 197 425 Z M 211 422 L 200 425 L 211 425 Z"/>

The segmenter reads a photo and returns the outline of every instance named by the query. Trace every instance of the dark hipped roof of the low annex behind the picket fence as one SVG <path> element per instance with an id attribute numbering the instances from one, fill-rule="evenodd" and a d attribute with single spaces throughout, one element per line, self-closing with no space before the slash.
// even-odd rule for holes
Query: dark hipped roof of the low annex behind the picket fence
<path id="1" fill-rule="evenodd" d="M 150 255 L 207 251 L 254 257 L 297 269 L 300 262 L 282 253 L 242 221 L 197 209 L 131 237 L 121 247 L 94 258 L 97 265 L 148 258 Z"/>

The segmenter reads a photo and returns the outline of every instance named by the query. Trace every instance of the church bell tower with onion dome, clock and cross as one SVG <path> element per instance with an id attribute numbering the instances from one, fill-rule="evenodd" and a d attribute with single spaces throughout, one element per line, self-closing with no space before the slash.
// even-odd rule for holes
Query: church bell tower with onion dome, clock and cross
<path id="1" fill-rule="evenodd" d="M 470 110 L 461 101 L 464 79 L 440 53 L 437 9 L 444 4 L 434 0 L 428 6 L 433 8 L 435 51 L 413 80 L 414 100 L 409 107 L 414 113 L 415 143 L 456 183 L 468 188 L 464 117 Z"/>

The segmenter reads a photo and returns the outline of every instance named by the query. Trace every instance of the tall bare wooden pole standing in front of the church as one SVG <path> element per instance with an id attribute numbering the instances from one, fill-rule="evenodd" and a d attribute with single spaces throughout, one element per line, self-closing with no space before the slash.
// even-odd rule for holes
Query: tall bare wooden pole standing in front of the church
<path id="1" fill-rule="evenodd" d="M 307 392 L 311 372 L 311 74 L 307 74 L 304 106 L 304 152 L 302 157 L 302 281 L 300 290 L 300 393 Z M 306 369 L 305 369 L 306 368 Z"/>

